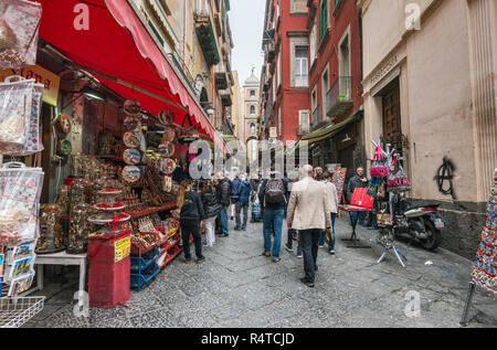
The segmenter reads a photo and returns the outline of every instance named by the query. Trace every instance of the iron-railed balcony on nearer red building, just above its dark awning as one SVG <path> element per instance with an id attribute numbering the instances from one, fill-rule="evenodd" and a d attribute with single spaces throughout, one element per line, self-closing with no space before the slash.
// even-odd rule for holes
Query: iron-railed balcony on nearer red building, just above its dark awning
<path id="1" fill-rule="evenodd" d="M 326 109 L 330 118 L 340 117 L 347 109 L 349 109 L 352 102 L 352 77 L 340 76 L 335 81 L 334 86 L 326 95 Z"/>

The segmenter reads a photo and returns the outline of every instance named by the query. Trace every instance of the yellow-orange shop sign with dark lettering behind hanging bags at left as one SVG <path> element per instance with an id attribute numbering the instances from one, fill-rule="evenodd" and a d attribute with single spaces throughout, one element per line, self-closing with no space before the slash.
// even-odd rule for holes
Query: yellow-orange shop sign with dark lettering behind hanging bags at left
<path id="1" fill-rule="evenodd" d="M 52 106 L 57 105 L 61 78 L 56 74 L 36 64 L 20 70 L 0 70 L 0 82 L 3 82 L 10 75 L 21 75 L 27 79 L 35 79 L 38 84 L 45 85 L 43 102 Z"/>

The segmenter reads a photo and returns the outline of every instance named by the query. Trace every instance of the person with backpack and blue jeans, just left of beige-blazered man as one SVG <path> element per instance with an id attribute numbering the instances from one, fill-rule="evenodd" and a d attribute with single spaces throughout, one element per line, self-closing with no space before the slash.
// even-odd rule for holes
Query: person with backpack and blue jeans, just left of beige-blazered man
<path id="1" fill-rule="evenodd" d="M 281 174 L 272 172 L 269 179 L 264 179 L 261 185 L 258 200 L 263 205 L 263 227 L 264 227 L 264 253 L 273 262 L 282 261 L 279 257 L 282 245 L 282 227 L 285 216 L 286 192 L 288 182 Z M 274 241 L 272 245 L 272 231 L 274 230 Z"/>

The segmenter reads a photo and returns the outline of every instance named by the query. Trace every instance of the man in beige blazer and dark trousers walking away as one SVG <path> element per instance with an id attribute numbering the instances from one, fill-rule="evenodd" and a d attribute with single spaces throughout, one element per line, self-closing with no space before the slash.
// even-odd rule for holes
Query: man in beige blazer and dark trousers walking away
<path id="1" fill-rule="evenodd" d="M 314 287 L 318 269 L 319 230 L 331 227 L 331 205 L 326 185 L 313 179 L 313 167 L 304 166 L 303 180 L 293 185 L 288 202 L 288 230 L 298 230 L 304 251 L 305 276 L 300 282 Z"/>

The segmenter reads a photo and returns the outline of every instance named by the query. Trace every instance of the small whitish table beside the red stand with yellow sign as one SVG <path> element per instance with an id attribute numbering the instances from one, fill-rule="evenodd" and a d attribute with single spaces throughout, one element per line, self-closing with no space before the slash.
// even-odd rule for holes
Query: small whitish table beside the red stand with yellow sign
<path id="1" fill-rule="evenodd" d="M 43 265 L 80 266 L 80 289 L 85 290 L 86 277 L 86 254 L 67 254 L 65 251 L 55 254 L 36 255 L 36 286 L 25 291 L 23 296 L 30 295 L 36 290 L 43 290 Z"/>

